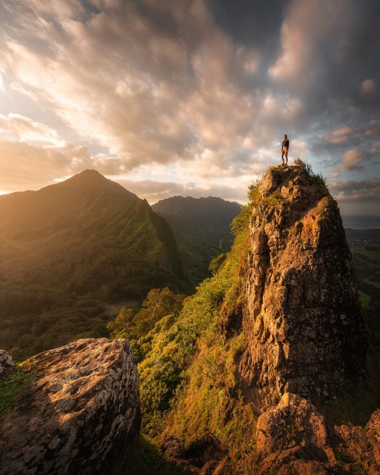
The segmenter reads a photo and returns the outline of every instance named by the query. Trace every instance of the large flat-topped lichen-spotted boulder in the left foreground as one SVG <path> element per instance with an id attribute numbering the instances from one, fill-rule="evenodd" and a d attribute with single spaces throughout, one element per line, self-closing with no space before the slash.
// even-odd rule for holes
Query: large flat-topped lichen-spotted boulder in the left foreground
<path id="1" fill-rule="evenodd" d="M 124 339 L 80 339 L 35 373 L 0 427 L 0 474 L 93 474 L 138 434 L 138 373 Z"/>

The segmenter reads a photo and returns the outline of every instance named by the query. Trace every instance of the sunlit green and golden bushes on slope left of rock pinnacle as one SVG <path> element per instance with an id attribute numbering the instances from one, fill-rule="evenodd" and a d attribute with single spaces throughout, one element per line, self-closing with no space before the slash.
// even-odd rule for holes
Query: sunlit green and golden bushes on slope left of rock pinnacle
<path id="1" fill-rule="evenodd" d="M 235 358 L 244 344 L 241 285 L 250 243 L 247 209 L 233 221 L 233 247 L 214 259 L 214 275 L 185 299 L 177 316 L 163 317 L 133 342 L 144 437 L 159 444 L 170 433 L 184 439 L 189 449 L 211 432 L 228 445 L 230 468 L 241 474 L 248 467 L 253 473 L 256 458 L 256 417 L 244 404 L 235 376 Z"/>

